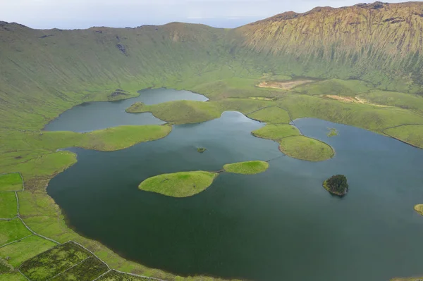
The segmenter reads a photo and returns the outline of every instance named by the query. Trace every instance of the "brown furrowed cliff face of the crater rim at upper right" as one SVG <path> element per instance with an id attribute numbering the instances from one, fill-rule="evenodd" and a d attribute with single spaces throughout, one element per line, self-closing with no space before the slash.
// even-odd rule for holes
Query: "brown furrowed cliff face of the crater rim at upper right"
<path id="1" fill-rule="evenodd" d="M 260 54 L 345 65 L 355 76 L 374 67 L 422 81 L 423 2 L 318 7 L 281 13 L 234 32 L 243 46 Z"/>

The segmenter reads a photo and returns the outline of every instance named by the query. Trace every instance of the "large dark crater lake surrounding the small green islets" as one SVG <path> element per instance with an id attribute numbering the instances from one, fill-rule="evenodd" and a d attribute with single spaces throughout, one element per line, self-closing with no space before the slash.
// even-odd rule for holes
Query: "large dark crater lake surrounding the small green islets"
<path id="1" fill-rule="evenodd" d="M 113 105 L 111 120 L 121 114 Z M 97 104 L 87 111 L 90 106 Z M 57 130 L 85 125 L 67 119 L 73 110 L 56 120 Z M 96 122 L 90 119 L 90 126 Z M 412 207 L 423 202 L 423 151 L 324 120 L 295 124 L 333 146 L 335 158 L 277 158 L 265 173 L 223 173 L 205 192 L 185 199 L 137 189 L 161 173 L 219 170 L 225 163 L 281 155 L 275 142 L 250 135 L 262 123 L 226 112 L 205 123 L 173 126 L 164 139 L 122 151 L 71 149 L 78 163 L 54 177 L 47 192 L 82 235 L 180 275 L 264 281 L 421 275 L 423 218 Z M 329 127 L 339 135 L 327 137 Z M 199 154 L 197 146 L 207 151 Z M 321 187 L 337 173 L 350 184 L 342 199 Z"/>

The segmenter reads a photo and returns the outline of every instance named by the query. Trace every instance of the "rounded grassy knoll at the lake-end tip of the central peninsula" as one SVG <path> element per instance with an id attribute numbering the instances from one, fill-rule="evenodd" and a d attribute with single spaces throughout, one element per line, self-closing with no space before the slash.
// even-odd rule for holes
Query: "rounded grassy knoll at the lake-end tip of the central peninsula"
<path id="1" fill-rule="evenodd" d="M 305 136 L 286 137 L 279 141 L 279 149 L 293 158 L 306 161 L 324 161 L 334 155 L 328 144 Z"/>

